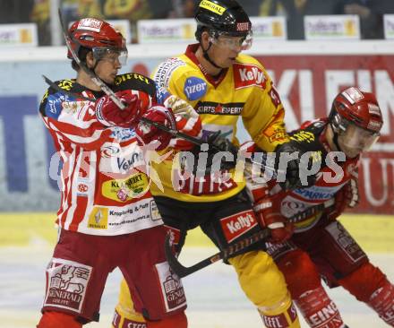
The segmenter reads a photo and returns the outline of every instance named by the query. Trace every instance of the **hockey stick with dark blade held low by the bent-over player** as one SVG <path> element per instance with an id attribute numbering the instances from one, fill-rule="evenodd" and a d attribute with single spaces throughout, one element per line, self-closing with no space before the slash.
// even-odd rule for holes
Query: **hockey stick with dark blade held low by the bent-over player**
<path id="1" fill-rule="evenodd" d="M 303 220 L 304 217 L 317 213 L 318 211 L 322 211 L 325 208 L 332 206 L 334 203 L 335 201 L 333 198 L 329 199 L 325 203 L 320 203 L 318 205 L 306 209 L 305 211 L 295 214 L 295 216 L 291 217 L 288 220 L 289 222 Z M 217 254 L 211 255 L 210 257 L 207 257 L 206 259 L 202 260 L 199 263 L 195 263 L 192 266 L 186 267 L 178 261 L 176 255 L 173 253 L 172 246 L 170 244 L 170 235 L 168 234 L 165 242 L 165 253 L 166 253 L 167 263 L 180 278 L 183 278 L 185 276 L 188 276 L 189 274 L 192 274 L 209 266 L 212 263 L 216 263 L 220 260 L 226 261 L 230 257 L 233 257 L 235 255 L 240 255 L 246 249 L 246 247 L 251 246 L 261 240 L 264 240 L 267 237 L 270 237 L 270 229 L 262 229 L 258 232 L 255 232 L 250 237 L 246 237 L 238 241 L 236 244 L 228 246 L 227 248 L 223 249 Z"/>

